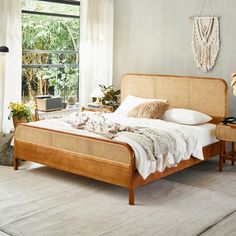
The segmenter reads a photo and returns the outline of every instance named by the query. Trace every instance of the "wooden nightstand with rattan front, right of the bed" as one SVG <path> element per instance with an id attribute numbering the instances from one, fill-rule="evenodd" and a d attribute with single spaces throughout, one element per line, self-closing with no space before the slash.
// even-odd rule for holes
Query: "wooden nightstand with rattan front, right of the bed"
<path id="1" fill-rule="evenodd" d="M 232 165 L 236 161 L 236 125 L 218 124 L 216 126 L 216 138 L 221 141 L 219 171 L 223 171 L 225 160 L 230 160 Z M 232 150 L 229 152 L 227 152 L 227 142 L 232 142 Z"/>

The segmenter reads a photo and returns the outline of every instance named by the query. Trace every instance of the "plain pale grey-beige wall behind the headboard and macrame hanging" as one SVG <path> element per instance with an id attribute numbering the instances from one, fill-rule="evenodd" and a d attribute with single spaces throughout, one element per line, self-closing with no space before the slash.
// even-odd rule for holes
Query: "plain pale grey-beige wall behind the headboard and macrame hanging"
<path id="1" fill-rule="evenodd" d="M 125 73 L 158 73 L 224 78 L 236 71 L 236 0 L 213 0 L 220 16 L 220 52 L 211 72 L 196 68 L 189 16 L 200 11 L 201 0 L 115 0 L 114 84 Z M 209 15 L 208 5 L 203 14 Z M 229 89 L 230 114 L 236 97 Z"/>

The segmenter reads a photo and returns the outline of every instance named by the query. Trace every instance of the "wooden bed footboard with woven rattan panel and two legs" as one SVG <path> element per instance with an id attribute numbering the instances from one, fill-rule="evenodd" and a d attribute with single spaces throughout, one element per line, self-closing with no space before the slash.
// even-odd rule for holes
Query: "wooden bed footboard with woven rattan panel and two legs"
<path id="1" fill-rule="evenodd" d="M 128 188 L 129 204 L 134 204 L 135 159 L 126 143 L 20 125 L 15 131 L 15 170 L 20 159 Z"/>

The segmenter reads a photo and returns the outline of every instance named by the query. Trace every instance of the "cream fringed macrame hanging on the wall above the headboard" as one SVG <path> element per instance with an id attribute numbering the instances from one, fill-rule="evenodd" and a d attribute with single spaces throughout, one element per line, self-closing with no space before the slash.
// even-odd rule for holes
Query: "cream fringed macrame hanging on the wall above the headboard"
<path id="1" fill-rule="evenodd" d="M 208 2 L 212 16 L 201 16 L 205 3 Z M 215 65 L 220 49 L 219 18 L 214 16 L 210 0 L 203 0 L 199 16 L 193 20 L 192 48 L 194 60 L 198 68 L 207 72 Z"/>

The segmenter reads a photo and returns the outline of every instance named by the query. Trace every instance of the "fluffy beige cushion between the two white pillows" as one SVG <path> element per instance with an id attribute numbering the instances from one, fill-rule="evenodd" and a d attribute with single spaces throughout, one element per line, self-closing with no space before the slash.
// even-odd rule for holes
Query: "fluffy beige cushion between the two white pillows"
<path id="1" fill-rule="evenodd" d="M 158 119 L 168 109 L 167 102 L 154 101 L 142 103 L 128 112 L 128 116 L 136 118 Z"/>

